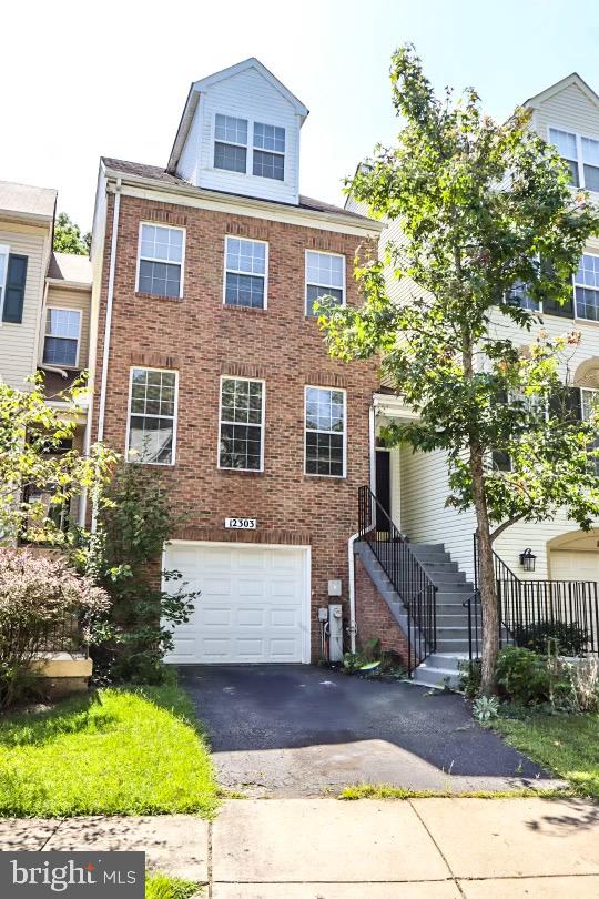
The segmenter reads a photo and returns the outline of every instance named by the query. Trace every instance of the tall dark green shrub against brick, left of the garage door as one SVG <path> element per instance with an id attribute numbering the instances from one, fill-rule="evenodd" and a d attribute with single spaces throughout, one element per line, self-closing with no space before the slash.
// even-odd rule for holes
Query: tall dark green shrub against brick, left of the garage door
<path id="1" fill-rule="evenodd" d="M 143 465 L 121 464 L 106 501 L 81 558 L 112 599 L 92 635 L 95 673 L 110 681 L 162 683 L 173 627 L 189 620 L 199 597 L 184 585 L 161 588 L 161 579 L 181 580 L 179 572 L 161 572 L 158 564 L 180 517 L 162 475 Z"/>

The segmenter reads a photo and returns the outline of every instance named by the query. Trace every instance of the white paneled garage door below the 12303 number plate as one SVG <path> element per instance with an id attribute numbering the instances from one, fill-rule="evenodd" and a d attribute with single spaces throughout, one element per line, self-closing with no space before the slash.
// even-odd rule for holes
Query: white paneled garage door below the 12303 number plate
<path id="1" fill-rule="evenodd" d="M 295 547 L 170 544 L 164 567 L 201 596 L 166 661 L 309 661 L 307 565 L 308 550 Z"/>

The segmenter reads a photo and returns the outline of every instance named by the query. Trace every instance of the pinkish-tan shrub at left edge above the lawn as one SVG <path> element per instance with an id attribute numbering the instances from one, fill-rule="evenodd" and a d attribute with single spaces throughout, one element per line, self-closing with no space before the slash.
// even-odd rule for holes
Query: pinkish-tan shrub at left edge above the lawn
<path id="1" fill-rule="evenodd" d="M 31 689 L 31 661 L 49 630 L 75 618 L 88 638 L 93 616 L 109 604 L 108 594 L 63 557 L 0 549 L 0 708 Z"/>

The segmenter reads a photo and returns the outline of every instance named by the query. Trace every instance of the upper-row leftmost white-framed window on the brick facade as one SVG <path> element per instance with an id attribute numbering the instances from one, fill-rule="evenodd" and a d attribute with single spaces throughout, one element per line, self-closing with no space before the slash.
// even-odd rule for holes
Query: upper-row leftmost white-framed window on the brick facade
<path id="1" fill-rule="evenodd" d="M 142 222 L 136 290 L 156 296 L 183 296 L 184 248 L 182 228 Z"/>

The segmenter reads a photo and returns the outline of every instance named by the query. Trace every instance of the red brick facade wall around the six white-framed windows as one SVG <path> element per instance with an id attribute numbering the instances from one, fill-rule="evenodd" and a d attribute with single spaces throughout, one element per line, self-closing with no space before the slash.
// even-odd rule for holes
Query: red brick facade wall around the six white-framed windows
<path id="1" fill-rule="evenodd" d="M 108 293 L 113 195 L 108 224 L 95 384 Z M 182 300 L 135 293 L 141 221 L 184 226 Z M 268 242 L 266 310 L 223 306 L 225 235 Z M 344 365 L 327 356 L 314 319 L 304 315 L 305 251 L 343 253 L 347 302 L 358 302 L 352 277 L 361 238 L 123 195 L 114 280 L 104 440 L 124 451 L 130 367 L 179 372 L 174 466 L 161 471 L 177 508 L 189 516 L 176 535 L 190 539 L 253 541 L 312 546 L 312 654 L 318 654 L 316 609 L 328 603 L 327 580 L 342 578 L 347 600 L 347 538 L 357 529 L 357 489 L 368 483 L 368 410 L 376 365 Z M 261 377 L 266 387 L 264 472 L 217 468 L 222 374 Z M 304 387 L 347 392 L 345 478 L 304 474 Z M 98 396 L 95 397 L 94 436 Z M 226 516 L 255 517 L 252 533 L 224 528 Z M 338 602 L 335 600 L 335 602 Z"/>

